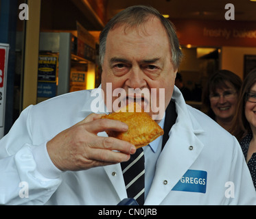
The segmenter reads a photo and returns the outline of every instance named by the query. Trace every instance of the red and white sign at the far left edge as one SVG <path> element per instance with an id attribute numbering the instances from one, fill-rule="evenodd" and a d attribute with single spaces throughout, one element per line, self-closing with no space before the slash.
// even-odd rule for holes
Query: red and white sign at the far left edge
<path id="1" fill-rule="evenodd" d="M 7 80 L 9 44 L 0 43 L 0 138 L 4 135 L 5 92 Z"/>

